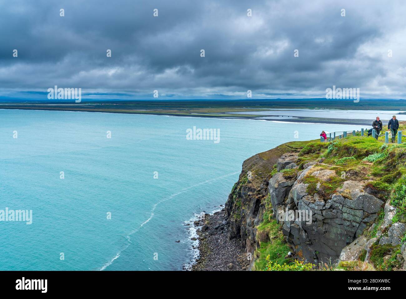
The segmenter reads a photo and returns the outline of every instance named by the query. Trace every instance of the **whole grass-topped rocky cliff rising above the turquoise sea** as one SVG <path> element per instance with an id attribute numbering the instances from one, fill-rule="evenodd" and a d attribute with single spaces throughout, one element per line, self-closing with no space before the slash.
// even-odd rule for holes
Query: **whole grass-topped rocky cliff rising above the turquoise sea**
<path id="1" fill-rule="evenodd" d="M 403 149 L 379 142 L 350 149 L 348 142 L 287 143 L 244 161 L 225 216 L 229 238 L 257 260 L 252 269 L 261 270 L 265 256 L 279 263 L 362 261 L 406 269 L 405 204 L 391 205 L 395 195 L 387 183 L 398 188 L 402 165 L 394 166 L 392 181 L 375 176 Z M 375 159 L 377 150 L 382 154 Z"/>

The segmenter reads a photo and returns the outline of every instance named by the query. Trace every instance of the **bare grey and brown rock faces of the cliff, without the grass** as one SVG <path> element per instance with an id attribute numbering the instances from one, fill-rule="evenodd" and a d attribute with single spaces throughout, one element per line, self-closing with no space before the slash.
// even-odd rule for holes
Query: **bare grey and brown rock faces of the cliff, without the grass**
<path id="1" fill-rule="evenodd" d="M 298 260 L 319 264 L 362 255 L 368 260 L 376 244 L 401 243 L 406 225 L 392 224 L 395 208 L 370 188 L 369 180 L 342 177 L 337 165 L 322 160 L 298 166 L 298 153 L 298 148 L 285 144 L 244 161 L 225 205 L 229 238 L 240 239 L 246 252 L 253 254 L 260 246 L 257 226 L 270 200 L 272 217 L 281 224 L 291 249 L 289 255 Z M 379 228 L 373 238 L 368 237 L 371 234 L 365 232 L 374 230 L 383 207 Z M 406 259 L 406 245 L 401 251 Z"/>

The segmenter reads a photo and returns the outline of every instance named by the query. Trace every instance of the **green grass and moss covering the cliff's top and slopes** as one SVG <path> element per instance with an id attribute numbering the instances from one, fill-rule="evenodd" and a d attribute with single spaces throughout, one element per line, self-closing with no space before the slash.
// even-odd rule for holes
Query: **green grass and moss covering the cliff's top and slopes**
<path id="1" fill-rule="evenodd" d="M 406 124 L 401 124 L 399 130 L 406 132 Z M 384 202 L 389 199 L 391 205 L 395 206 L 396 214 L 392 219 L 393 223 L 406 223 L 406 142 L 402 144 L 385 144 L 384 137 L 376 140 L 366 136 L 351 136 L 331 142 L 298 141 L 285 143 L 246 160 L 242 176 L 246 171 L 252 171 L 253 178 L 251 180 L 242 180 L 243 184 L 241 186 L 249 184 L 259 188 L 259 185 L 263 184 L 264 180 L 269 180 L 276 173 L 275 162 L 277 158 L 286 152 L 292 151 L 299 152 L 299 159 L 296 162 L 298 168 L 283 170 L 283 176 L 295 179 L 298 172 L 303 169 L 303 165 L 313 161 L 322 162 L 320 166 L 317 166 L 318 170 L 328 167 L 337 174 L 333 180 L 322 182 L 322 184 L 319 181 L 316 182 L 312 176 L 307 176 L 304 182 L 308 184 L 307 192 L 309 194 L 315 193 L 317 190 L 319 194 L 328 198 L 337 188 L 341 188 L 346 180 L 367 182 L 368 188 L 376 197 Z M 259 161 L 261 162 L 258 163 Z M 297 264 L 294 260 L 289 259 L 289 247 L 284 241 L 280 225 L 276 223 L 272 215 L 269 195 L 264 196 L 261 202 L 264 206 L 263 220 L 256 226 L 256 239 L 259 246 L 254 253 L 255 263 L 253 269 L 285 269 L 281 267 L 285 263 L 290 267 L 287 270 L 309 269 L 305 264 Z M 383 210 L 381 214 L 383 215 Z M 382 218 L 378 217 L 376 219 L 376 228 L 382 222 Z M 371 237 L 374 230 L 367 232 L 367 229 L 365 234 L 369 234 L 369 237 Z M 406 236 L 402 239 L 402 243 L 405 241 Z M 396 269 L 396 262 L 393 259 L 392 261 L 384 261 L 383 259 L 383 255 L 387 255 L 389 252 L 388 248 L 386 248 L 388 246 L 384 247 L 376 247 L 374 251 L 376 256 L 371 258 L 371 264 L 363 263 L 361 257 L 356 262 L 324 265 L 323 270 L 335 268 L 345 270 L 394 270 Z M 393 253 L 396 256 L 399 250 L 395 251 Z M 390 264 L 391 262 L 393 263 Z"/>

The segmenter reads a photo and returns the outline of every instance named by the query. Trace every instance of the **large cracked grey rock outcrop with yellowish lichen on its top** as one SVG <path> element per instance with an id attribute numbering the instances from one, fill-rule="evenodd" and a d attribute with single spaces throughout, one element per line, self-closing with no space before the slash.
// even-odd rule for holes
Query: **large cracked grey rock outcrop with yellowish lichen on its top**
<path id="1" fill-rule="evenodd" d="M 278 165 L 285 160 L 282 156 Z M 368 193 L 364 181 L 346 180 L 333 194 L 326 194 L 322 184 L 338 178 L 331 166 L 307 163 L 303 168 L 296 180 L 284 177 L 284 172 L 270 179 L 272 210 L 295 258 L 314 264 L 337 260 L 341 250 L 378 217 L 383 201 Z M 289 214 L 296 220 L 289 220 Z"/>

